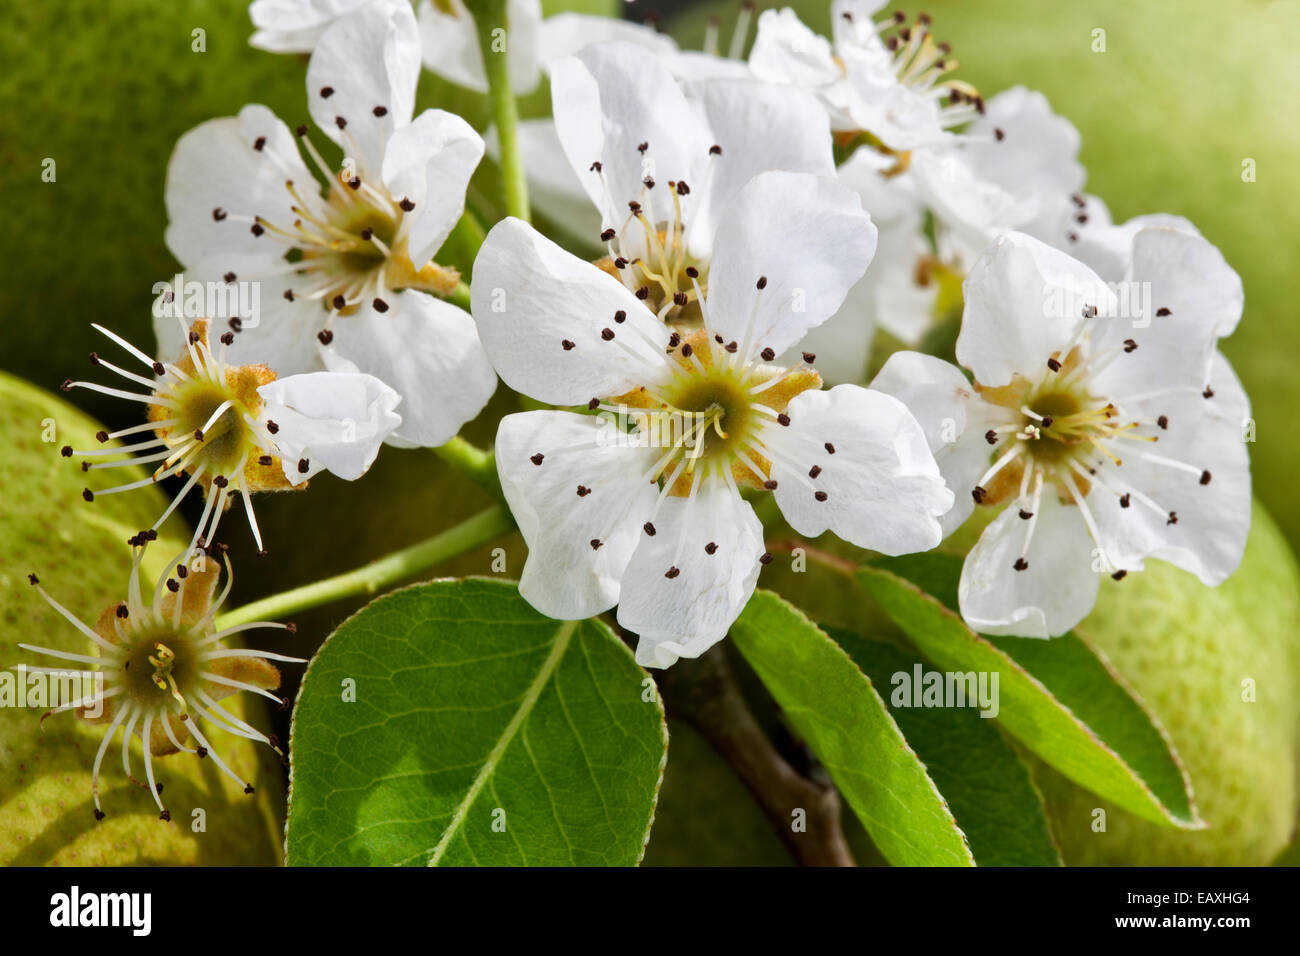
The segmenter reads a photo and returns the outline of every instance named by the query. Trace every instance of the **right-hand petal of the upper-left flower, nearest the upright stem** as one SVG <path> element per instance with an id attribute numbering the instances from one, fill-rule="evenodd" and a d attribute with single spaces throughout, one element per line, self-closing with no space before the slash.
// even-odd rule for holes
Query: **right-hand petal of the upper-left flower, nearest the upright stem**
<path id="1" fill-rule="evenodd" d="M 384 185 L 394 199 L 415 203 L 408 237 L 411 261 L 419 269 L 438 251 L 465 211 L 465 189 L 484 140 L 455 113 L 426 109 L 389 139 Z"/>

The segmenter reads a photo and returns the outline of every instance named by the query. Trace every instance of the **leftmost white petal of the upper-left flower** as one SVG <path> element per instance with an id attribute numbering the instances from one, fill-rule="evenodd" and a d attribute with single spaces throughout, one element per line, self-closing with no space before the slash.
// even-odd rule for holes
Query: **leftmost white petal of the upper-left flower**
<path id="1" fill-rule="evenodd" d="M 168 163 L 172 255 L 194 265 L 221 252 L 282 254 L 285 246 L 270 233 L 254 235 L 248 220 L 292 221 L 286 179 L 315 187 L 294 134 L 266 107 L 251 104 L 239 116 L 195 126 L 177 140 Z"/>

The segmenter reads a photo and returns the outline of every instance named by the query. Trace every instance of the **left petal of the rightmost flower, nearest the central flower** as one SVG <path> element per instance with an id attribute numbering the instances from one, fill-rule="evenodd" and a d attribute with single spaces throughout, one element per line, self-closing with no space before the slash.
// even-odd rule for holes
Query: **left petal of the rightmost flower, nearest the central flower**
<path id="1" fill-rule="evenodd" d="M 939 471 L 953 492 L 953 507 L 940 518 L 946 537 L 975 510 L 971 489 L 996 450 L 984 434 L 1000 424 L 1001 410 L 976 395 L 959 368 L 923 352 L 890 355 L 871 388 L 906 405 L 926 432 Z"/>

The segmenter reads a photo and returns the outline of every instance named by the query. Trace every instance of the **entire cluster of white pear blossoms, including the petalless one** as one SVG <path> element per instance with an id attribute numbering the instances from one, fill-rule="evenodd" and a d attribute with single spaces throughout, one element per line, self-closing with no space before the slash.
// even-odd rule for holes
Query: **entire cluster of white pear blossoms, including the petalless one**
<path id="1" fill-rule="evenodd" d="M 151 466 L 87 501 L 177 486 L 131 540 L 124 602 L 86 626 L 47 596 L 98 654 L 35 650 L 107 679 L 62 708 L 107 706 L 96 813 L 118 730 L 127 775 L 142 740 L 164 818 L 155 757 L 231 773 L 199 719 L 268 740 L 218 702 L 276 698 L 268 661 L 290 659 L 228 648 L 244 628 L 216 626 L 235 496 L 263 551 L 255 493 L 358 480 L 382 445 L 442 446 L 498 376 L 529 408 L 494 447 L 529 549 L 520 592 L 560 619 L 616 607 L 645 666 L 727 635 L 772 559 L 759 512 L 897 555 L 1000 509 L 959 583 L 988 633 L 1061 635 L 1147 558 L 1209 585 L 1234 571 L 1249 406 L 1218 342 L 1240 280 L 1186 220 L 1113 224 L 1041 94 L 985 99 L 930 17 L 883 7 L 833 0 L 829 38 L 766 10 L 746 60 L 748 5 L 725 51 L 716 27 L 686 51 L 510 0 L 498 51 L 476 0 L 252 3 L 254 46 L 309 55 L 315 130 L 251 104 L 186 133 L 165 238 L 188 278 L 254 284 L 259 306 L 156 310 L 155 354 L 96 325 L 142 368 L 94 364 L 135 388 L 65 385 L 147 410 L 61 449 L 87 472 Z M 478 131 L 416 111 L 422 66 L 502 94 L 490 56 L 507 94 L 546 77 L 551 114 Z M 526 211 L 465 212 L 484 156 L 504 168 L 507 150 L 550 235 Z M 462 222 L 481 241 L 471 282 L 445 258 Z M 957 364 L 894 351 L 864 384 L 878 330 L 919 347 L 958 312 Z M 190 545 L 146 602 L 146 545 L 191 493 Z"/>

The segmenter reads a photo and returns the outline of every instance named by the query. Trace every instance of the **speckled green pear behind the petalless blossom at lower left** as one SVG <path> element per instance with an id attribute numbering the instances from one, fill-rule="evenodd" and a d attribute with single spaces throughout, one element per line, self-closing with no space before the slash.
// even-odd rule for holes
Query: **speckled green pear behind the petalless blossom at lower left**
<path id="1" fill-rule="evenodd" d="M 62 445 L 99 447 L 99 423 L 56 395 L 0 375 L 0 670 L 49 665 L 18 648 L 31 643 L 86 654 L 92 645 L 27 584 L 36 572 L 51 597 L 83 622 L 126 597 L 131 550 L 126 538 L 148 528 L 166 507 L 157 488 L 82 501 L 82 488 L 103 489 L 144 477 L 139 468 L 83 473 L 58 454 Z M 190 540 L 168 522 L 150 546 L 150 578 Z M 248 695 L 222 706 L 257 727 L 264 708 Z M 283 775 L 269 747 L 222 734 L 222 760 L 256 793 L 221 774 L 212 761 L 174 753 L 155 761 L 166 788 L 172 823 L 159 819 L 148 791 L 122 775 L 121 743 L 109 747 L 100 773 L 108 814 L 96 822 L 91 769 L 104 727 L 64 713 L 42 724 L 44 708 L 0 708 L 0 864 L 40 865 L 270 865 L 280 857 Z M 143 756 L 131 747 L 139 773 Z M 195 829 L 195 810 L 204 826 Z"/>

